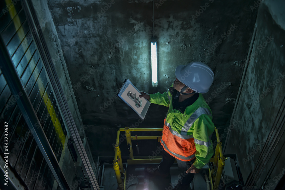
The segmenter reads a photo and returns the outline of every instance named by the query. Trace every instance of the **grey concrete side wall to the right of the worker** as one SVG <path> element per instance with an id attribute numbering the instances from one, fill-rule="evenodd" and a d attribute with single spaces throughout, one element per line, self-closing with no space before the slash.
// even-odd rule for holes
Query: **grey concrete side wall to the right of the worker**
<path id="1" fill-rule="evenodd" d="M 256 36 L 225 149 L 238 155 L 244 181 L 253 173 L 258 188 L 267 181 L 266 189 L 274 189 L 284 174 L 284 6 L 274 0 L 251 7 L 258 10 Z"/>

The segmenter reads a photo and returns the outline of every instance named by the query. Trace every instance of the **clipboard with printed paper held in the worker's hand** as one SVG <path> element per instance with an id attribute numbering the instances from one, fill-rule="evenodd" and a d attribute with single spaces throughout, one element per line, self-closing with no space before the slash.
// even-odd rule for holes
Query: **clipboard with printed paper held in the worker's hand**
<path id="1" fill-rule="evenodd" d="M 140 91 L 126 79 L 117 94 L 129 107 L 135 111 L 141 119 L 144 119 L 150 102 L 145 98 L 140 98 Z"/>

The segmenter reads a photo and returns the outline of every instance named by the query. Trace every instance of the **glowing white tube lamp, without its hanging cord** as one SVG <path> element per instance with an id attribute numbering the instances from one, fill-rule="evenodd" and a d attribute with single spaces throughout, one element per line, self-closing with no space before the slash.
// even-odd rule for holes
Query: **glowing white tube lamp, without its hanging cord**
<path id="1" fill-rule="evenodd" d="M 157 87 L 157 57 L 156 57 L 156 40 L 152 39 L 150 42 L 151 52 L 151 79 L 152 86 Z"/>

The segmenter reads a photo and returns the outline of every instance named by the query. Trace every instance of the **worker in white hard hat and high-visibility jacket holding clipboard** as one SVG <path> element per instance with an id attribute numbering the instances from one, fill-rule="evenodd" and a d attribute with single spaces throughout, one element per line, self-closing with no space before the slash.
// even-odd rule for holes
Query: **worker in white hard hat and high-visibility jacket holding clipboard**
<path id="1" fill-rule="evenodd" d="M 141 92 L 139 96 L 150 103 L 169 107 L 160 140 L 162 160 L 158 167 L 146 168 L 146 172 L 170 177 L 170 167 L 176 159 L 183 173 L 174 189 L 187 190 L 194 173 L 198 173 L 214 153 L 211 136 L 215 126 L 211 109 L 202 96 L 209 91 L 214 73 L 206 64 L 192 62 L 176 67 L 175 75 L 167 92 Z"/>

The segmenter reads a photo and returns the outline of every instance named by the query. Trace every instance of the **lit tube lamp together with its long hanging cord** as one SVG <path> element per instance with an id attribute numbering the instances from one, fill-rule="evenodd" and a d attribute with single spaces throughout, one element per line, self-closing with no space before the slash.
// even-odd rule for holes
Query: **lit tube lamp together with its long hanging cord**
<path id="1" fill-rule="evenodd" d="M 151 79 L 152 86 L 157 87 L 157 46 L 156 38 L 154 38 L 154 5 L 152 1 L 152 38 L 150 40 L 150 53 L 151 53 Z"/>

